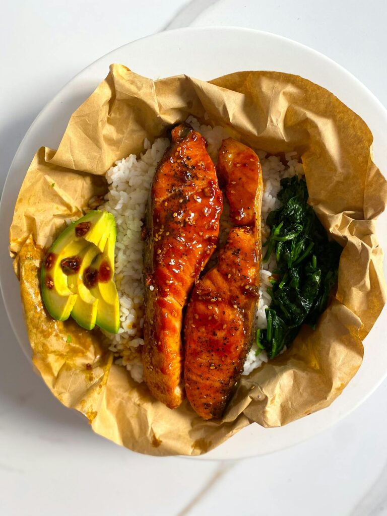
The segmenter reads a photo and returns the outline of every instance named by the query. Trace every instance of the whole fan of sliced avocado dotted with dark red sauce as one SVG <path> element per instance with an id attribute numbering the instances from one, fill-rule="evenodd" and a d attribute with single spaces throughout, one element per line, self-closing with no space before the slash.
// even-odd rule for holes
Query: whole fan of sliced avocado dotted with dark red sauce
<path id="1" fill-rule="evenodd" d="M 119 300 L 114 283 L 116 221 L 94 210 L 72 222 L 55 240 L 41 268 L 42 299 L 57 320 L 70 314 L 79 326 L 119 329 Z M 86 281 L 85 281 L 86 279 Z"/>

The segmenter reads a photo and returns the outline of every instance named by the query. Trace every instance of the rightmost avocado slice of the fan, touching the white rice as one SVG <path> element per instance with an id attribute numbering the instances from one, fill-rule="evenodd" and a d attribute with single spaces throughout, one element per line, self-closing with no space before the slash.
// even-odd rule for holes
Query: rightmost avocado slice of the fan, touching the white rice
<path id="1" fill-rule="evenodd" d="M 88 271 L 90 292 L 98 299 L 96 325 L 110 333 L 118 333 L 120 328 L 120 303 L 113 280 L 115 244 L 116 234 L 109 236 L 103 253 L 96 256 Z"/>

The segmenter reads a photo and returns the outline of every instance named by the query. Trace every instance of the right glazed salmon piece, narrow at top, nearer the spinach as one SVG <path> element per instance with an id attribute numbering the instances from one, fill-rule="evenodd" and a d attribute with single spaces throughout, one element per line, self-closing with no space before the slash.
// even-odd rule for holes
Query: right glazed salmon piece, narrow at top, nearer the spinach
<path id="1" fill-rule="evenodd" d="M 259 158 L 228 138 L 222 143 L 217 168 L 236 227 L 230 230 L 217 265 L 193 289 L 184 323 L 185 389 L 192 408 L 205 420 L 222 416 L 243 373 L 256 332 L 261 268 Z M 244 171 L 250 182 L 245 190 Z M 242 221 L 248 225 L 239 227 Z"/>

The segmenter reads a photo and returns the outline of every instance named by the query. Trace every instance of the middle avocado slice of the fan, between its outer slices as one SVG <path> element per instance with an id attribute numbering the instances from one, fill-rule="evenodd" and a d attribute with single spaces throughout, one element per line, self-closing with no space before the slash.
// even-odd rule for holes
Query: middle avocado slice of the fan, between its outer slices
<path id="1" fill-rule="evenodd" d="M 98 299 L 86 288 L 83 282 L 83 275 L 85 269 L 90 267 L 91 262 L 99 253 L 99 248 L 94 246 L 94 244 L 84 245 L 84 249 L 79 252 L 79 258 L 82 262 L 78 272 L 67 277 L 69 289 L 74 294 L 77 294 L 75 304 L 71 310 L 71 317 L 79 326 L 86 330 L 91 330 L 95 326 Z"/>

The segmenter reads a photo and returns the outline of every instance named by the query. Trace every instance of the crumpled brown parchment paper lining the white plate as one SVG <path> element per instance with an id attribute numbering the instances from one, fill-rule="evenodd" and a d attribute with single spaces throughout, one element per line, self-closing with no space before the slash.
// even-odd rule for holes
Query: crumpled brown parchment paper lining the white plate
<path id="1" fill-rule="evenodd" d="M 45 249 L 107 190 L 105 171 L 142 150 L 167 126 L 193 115 L 228 126 L 270 153 L 296 150 L 320 220 L 343 247 L 335 297 L 315 331 L 244 377 L 223 421 L 204 422 L 187 401 L 170 410 L 112 363 L 99 330 L 45 312 L 39 268 Z M 366 124 L 329 91 L 299 76 L 238 72 L 209 83 L 177 76 L 153 81 L 112 65 L 70 119 L 57 151 L 41 148 L 15 206 L 10 253 L 20 278 L 33 362 L 52 393 L 84 413 L 93 430 L 141 453 L 197 455 L 256 422 L 280 426 L 327 407 L 357 372 L 361 338 L 386 298 L 375 219 L 387 183 L 372 162 Z"/>

